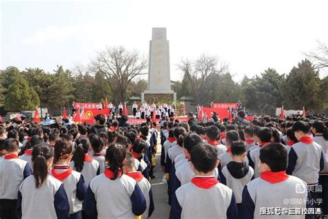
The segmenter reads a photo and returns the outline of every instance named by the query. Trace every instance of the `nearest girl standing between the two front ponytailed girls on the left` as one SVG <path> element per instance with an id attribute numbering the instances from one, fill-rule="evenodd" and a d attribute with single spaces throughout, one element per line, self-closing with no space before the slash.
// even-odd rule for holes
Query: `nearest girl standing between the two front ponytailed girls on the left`
<path id="1" fill-rule="evenodd" d="M 69 216 L 71 219 L 82 219 L 82 201 L 86 193 L 86 185 L 81 173 L 69 166 L 73 157 L 73 147 L 67 141 L 55 142 L 55 165 L 51 175 L 64 184 L 69 199 Z"/>

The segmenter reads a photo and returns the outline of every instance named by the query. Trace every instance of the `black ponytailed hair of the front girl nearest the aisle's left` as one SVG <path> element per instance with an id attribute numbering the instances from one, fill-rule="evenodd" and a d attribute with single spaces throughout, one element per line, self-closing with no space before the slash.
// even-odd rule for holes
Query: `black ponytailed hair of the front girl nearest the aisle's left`
<path id="1" fill-rule="evenodd" d="M 123 161 L 126 157 L 127 151 L 118 144 L 114 144 L 106 150 L 106 160 L 108 161 L 109 170 L 113 171 L 114 176 L 110 179 L 115 180 L 120 177 L 119 172 L 122 171 Z"/>

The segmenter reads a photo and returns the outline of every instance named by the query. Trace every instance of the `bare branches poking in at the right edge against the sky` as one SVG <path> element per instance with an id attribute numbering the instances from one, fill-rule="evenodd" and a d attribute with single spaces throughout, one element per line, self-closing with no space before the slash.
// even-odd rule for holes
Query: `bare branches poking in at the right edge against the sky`
<path id="1" fill-rule="evenodd" d="M 316 69 L 328 67 L 328 47 L 323 42 L 318 41 L 318 48 L 315 51 L 305 53 L 305 55 L 315 63 Z"/>

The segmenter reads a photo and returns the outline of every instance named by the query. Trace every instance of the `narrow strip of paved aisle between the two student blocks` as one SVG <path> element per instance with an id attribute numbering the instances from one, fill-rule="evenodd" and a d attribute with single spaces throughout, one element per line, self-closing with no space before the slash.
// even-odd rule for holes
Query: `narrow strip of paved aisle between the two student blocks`
<path id="1" fill-rule="evenodd" d="M 158 142 L 161 142 L 160 140 Z M 163 180 L 164 173 L 161 170 L 161 143 L 158 143 L 156 153 L 155 179 L 152 179 L 152 191 L 154 196 L 155 210 L 152 218 L 169 218 L 170 205 L 167 204 L 167 184 Z"/>

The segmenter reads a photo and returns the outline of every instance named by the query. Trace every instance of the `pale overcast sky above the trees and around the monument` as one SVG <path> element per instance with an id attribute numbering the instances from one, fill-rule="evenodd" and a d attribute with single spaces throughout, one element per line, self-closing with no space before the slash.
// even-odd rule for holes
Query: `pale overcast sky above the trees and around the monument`
<path id="1" fill-rule="evenodd" d="M 328 44 L 327 8 L 326 0 L 1 1 L 0 69 L 71 69 L 105 46 L 149 55 L 152 27 L 166 27 L 172 80 L 181 58 L 201 54 L 228 63 L 238 81 L 268 67 L 288 73 L 317 40 Z"/>

